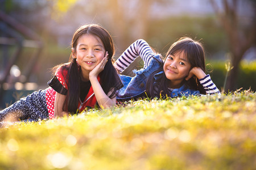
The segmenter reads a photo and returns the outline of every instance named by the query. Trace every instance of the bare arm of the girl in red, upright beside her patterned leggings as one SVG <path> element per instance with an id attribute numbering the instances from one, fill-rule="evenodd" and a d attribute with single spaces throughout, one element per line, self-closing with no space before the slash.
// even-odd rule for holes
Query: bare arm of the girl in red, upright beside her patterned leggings
<path id="1" fill-rule="evenodd" d="M 61 95 L 58 92 L 56 92 L 55 96 L 55 104 L 54 104 L 54 117 L 63 117 L 68 116 L 68 112 L 63 111 L 63 104 L 66 99 L 66 95 Z"/>

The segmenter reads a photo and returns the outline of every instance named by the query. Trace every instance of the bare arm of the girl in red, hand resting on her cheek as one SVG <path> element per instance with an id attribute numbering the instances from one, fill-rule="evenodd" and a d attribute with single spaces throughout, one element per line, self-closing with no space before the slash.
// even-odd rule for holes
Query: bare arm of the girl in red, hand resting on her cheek
<path id="1" fill-rule="evenodd" d="M 104 90 L 101 87 L 100 82 L 98 82 L 97 76 L 104 70 L 104 67 L 107 62 L 108 53 L 102 59 L 102 61 L 89 73 L 90 83 L 92 84 L 93 92 L 98 102 L 98 105 L 103 108 L 113 107 L 116 104 L 116 98 L 113 99 L 109 98 L 109 95 L 112 94 L 113 91 L 110 91 L 108 95 L 105 94 Z M 104 82 L 103 82 L 104 83 Z"/>

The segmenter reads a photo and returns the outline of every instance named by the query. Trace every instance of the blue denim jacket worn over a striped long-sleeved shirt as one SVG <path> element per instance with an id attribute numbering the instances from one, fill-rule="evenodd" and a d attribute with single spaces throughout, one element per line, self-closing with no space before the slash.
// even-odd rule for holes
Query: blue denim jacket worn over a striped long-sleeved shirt
<path id="1" fill-rule="evenodd" d="M 146 83 L 149 76 L 161 67 L 160 63 L 163 62 L 160 59 L 159 55 L 153 56 L 150 64 L 141 70 L 134 71 L 135 76 L 126 76 L 119 75 L 123 88 L 121 88 L 117 95 L 117 100 L 130 100 L 131 98 L 137 99 L 138 97 L 146 97 Z M 155 80 L 158 80 L 161 76 L 163 76 L 164 71 L 160 71 L 154 75 Z M 170 97 L 178 97 L 178 96 L 189 96 L 189 95 L 199 95 L 200 92 L 196 90 L 191 90 L 185 84 L 180 88 L 176 88 L 171 91 Z"/>

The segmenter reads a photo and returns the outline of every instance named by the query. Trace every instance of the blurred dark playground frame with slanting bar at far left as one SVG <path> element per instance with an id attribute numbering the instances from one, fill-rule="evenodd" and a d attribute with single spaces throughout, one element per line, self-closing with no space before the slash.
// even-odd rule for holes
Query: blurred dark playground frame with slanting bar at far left
<path id="1" fill-rule="evenodd" d="M 43 42 L 30 28 L 25 27 L 16 19 L 5 12 L 0 11 L 0 108 L 5 108 L 5 103 L 10 103 L 14 99 L 13 92 L 30 93 L 32 90 L 20 88 L 15 89 L 13 84 L 29 84 L 28 79 L 32 73 L 35 63 L 38 61 L 43 49 Z M 19 71 L 15 69 L 15 63 L 20 58 L 24 48 L 34 48 L 36 52 L 27 61 L 25 69 L 20 71 L 20 75 L 10 80 L 10 74 Z M 10 50 L 13 50 L 10 54 Z"/>

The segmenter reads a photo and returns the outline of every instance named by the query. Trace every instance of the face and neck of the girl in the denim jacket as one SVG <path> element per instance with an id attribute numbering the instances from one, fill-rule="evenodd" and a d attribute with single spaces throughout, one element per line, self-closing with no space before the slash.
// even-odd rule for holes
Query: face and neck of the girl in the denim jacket
<path id="1" fill-rule="evenodd" d="M 184 78 L 191 70 L 191 64 L 183 52 L 176 52 L 166 58 L 163 66 L 164 73 L 169 81 L 169 88 L 179 88 Z"/>

